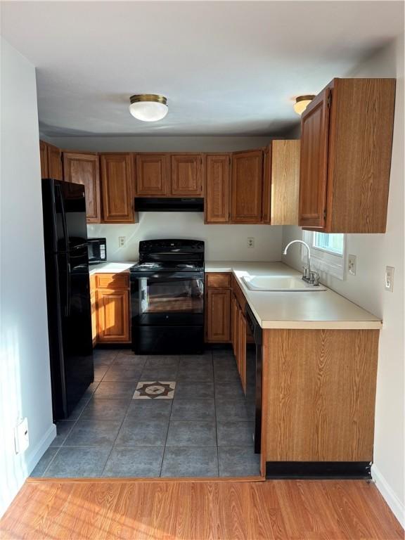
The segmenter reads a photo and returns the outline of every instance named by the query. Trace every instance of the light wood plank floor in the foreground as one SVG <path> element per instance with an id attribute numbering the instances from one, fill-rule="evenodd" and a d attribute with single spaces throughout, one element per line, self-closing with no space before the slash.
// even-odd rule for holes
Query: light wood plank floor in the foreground
<path id="1" fill-rule="evenodd" d="M 404 531 L 364 481 L 29 482 L 0 538 L 390 540 Z"/>

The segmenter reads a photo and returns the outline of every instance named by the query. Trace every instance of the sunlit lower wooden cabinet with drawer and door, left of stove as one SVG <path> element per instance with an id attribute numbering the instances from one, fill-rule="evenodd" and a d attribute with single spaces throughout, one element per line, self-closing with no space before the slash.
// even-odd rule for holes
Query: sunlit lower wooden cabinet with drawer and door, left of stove
<path id="1" fill-rule="evenodd" d="M 127 274 L 90 276 L 90 290 L 93 344 L 129 343 L 131 341 L 129 276 Z"/>

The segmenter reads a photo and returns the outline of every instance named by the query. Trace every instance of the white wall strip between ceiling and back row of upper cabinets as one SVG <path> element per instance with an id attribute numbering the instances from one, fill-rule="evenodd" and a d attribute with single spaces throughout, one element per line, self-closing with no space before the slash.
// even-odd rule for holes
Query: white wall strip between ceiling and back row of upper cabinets
<path id="1" fill-rule="evenodd" d="M 41 139 L 64 150 L 88 152 L 232 152 L 266 146 L 271 137 L 49 137 L 41 134 Z"/>

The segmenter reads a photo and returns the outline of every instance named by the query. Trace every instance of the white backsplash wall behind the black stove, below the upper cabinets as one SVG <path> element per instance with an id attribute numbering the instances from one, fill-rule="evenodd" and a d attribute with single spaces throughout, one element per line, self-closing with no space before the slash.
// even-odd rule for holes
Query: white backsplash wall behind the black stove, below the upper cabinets
<path id="1" fill-rule="evenodd" d="M 110 261 L 136 261 L 139 240 L 153 238 L 193 238 L 205 240 L 208 261 L 279 261 L 281 226 L 205 225 L 203 212 L 140 212 L 139 224 L 88 225 L 89 236 L 107 238 Z M 127 238 L 123 248 L 118 237 Z M 248 238 L 255 238 L 255 248 L 248 248 Z"/>

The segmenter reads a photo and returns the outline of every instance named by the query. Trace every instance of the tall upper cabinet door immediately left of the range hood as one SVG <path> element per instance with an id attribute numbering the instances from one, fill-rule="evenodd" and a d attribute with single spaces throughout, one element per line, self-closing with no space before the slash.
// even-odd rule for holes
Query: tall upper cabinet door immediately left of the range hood
<path id="1" fill-rule="evenodd" d="M 130 154 L 101 155 L 104 223 L 134 223 Z"/>

